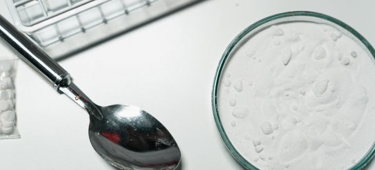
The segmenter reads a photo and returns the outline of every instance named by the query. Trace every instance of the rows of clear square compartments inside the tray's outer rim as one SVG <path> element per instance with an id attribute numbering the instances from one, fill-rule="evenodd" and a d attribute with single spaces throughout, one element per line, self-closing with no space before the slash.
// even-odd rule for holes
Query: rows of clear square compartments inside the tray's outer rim
<path id="1" fill-rule="evenodd" d="M 24 26 L 35 26 L 94 0 L 15 0 L 14 6 Z M 137 9 L 150 6 L 158 0 L 107 0 L 86 8 L 72 17 L 35 29 L 31 37 L 42 47 L 84 33 L 99 24 L 122 15 L 130 15 Z"/>

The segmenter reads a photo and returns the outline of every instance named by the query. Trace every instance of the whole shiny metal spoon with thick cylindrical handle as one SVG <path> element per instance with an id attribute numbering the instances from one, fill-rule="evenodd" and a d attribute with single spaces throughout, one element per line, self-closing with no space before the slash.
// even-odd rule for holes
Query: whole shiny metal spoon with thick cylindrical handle
<path id="1" fill-rule="evenodd" d="M 175 140 L 150 114 L 136 106 L 96 105 L 75 86 L 67 71 L 1 16 L 0 37 L 59 93 L 87 110 L 91 144 L 111 165 L 121 170 L 173 170 L 178 166 L 181 153 Z"/>

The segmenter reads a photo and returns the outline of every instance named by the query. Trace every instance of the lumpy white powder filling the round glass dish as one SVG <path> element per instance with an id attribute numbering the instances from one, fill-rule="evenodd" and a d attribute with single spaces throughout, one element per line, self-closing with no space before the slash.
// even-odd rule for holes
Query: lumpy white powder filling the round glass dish
<path id="1" fill-rule="evenodd" d="M 374 58 L 351 37 L 295 21 L 268 27 L 234 51 L 218 111 L 247 161 L 261 170 L 347 170 L 369 151 Z"/>

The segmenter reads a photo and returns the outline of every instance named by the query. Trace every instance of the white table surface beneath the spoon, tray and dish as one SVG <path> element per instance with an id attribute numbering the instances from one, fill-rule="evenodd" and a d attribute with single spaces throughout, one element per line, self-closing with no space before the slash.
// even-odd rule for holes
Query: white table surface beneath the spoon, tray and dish
<path id="1" fill-rule="evenodd" d="M 243 170 L 221 141 L 211 109 L 213 77 L 229 42 L 263 17 L 305 10 L 336 17 L 375 44 L 374 6 L 374 0 L 206 0 L 60 64 L 97 104 L 134 104 L 159 119 L 181 149 L 180 170 Z M 3 0 L 0 14 L 10 18 Z M 16 87 L 21 138 L 0 140 L 1 170 L 114 170 L 92 148 L 83 109 L 22 62 Z M 364 170 L 375 170 L 374 162 Z"/>

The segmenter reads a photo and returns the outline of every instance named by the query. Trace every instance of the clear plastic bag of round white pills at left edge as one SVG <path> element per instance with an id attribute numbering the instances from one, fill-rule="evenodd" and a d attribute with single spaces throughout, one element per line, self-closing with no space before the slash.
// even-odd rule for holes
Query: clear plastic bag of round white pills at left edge
<path id="1" fill-rule="evenodd" d="M 19 138 L 15 77 L 18 57 L 0 43 L 0 139 Z"/>

